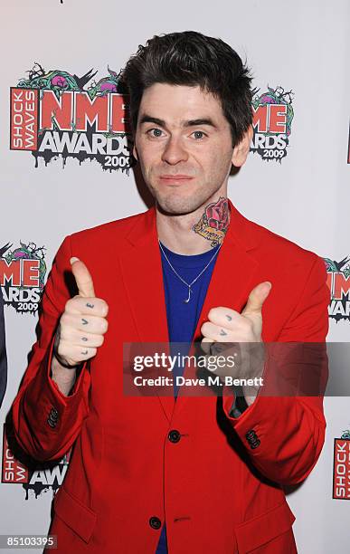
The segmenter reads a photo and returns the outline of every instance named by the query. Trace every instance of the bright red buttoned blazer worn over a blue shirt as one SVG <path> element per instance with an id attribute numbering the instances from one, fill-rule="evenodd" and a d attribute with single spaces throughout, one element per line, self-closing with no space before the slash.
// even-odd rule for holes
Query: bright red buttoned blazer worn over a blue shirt
<path id="1" fill-rule="evenodd" d="M 324 341 L 323 261 L 231 209 L 195 338 L 211 308 L 241 311 L 251 289 L 269 280 L 262 339 Z M 71 256 L 87 264 L 96 295 L 108 302 L 109 330 L 66 397 L 49 375 L 52 336 L 71 295 Z M 123 396 L 123 342 L 168 339 L 154 208 L 65 238 L 43 294 L 39 337 L 14 400 L 14 428 L 38 460 L 60 458 L 75 443 L 54 498 L 58 554 L 151 554 L 164 521 L 170 554 L 296 552 L 280 485 L 301 482 L 317 462 L 322 398 L 258 396 L 234 419 L 232 396 Z"/>

